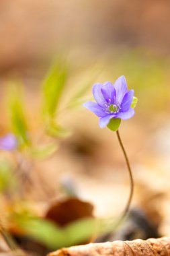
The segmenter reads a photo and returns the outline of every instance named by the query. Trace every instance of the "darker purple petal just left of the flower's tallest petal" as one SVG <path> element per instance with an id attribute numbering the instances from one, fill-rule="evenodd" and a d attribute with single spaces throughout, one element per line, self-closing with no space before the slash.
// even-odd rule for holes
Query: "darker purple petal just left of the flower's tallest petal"
<path id="1" fill-rule="evenodd" d="M 116 90 L 111 82 L 105 82 L 101 87 L 101 92 L 107 102 L 111 102 L 112 104 L 114 104 Z"/>

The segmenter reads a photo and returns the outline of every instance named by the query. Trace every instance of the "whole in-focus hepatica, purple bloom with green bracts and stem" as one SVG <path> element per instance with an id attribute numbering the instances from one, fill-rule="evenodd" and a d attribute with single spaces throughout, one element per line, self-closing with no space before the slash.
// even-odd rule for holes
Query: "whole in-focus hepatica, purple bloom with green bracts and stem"
<path id="1" fill-rule="evenodd" d="M 83 106 L 85 106 L 85 108 L 88 110 L 91 110 L 95 115 L 97 115 L 97 117 L 99 117 L 99 126 L 101 128 L 107 126 L 110 130 L 116 131 L 130 177 L 130 193 L 122 216 L 118 221 L 119 224 L 128 214 L 130 209 L 130 203 L 132 201 L 134 191 L 134 181 L 130 162 L 128 160 L 128 156 L 122 143 L 118 128 L 122 119 L 126 120 L 133 117 L 137 98 L 134 97 L 134 90 L 128 90 L 126 79 L 123 75 L 119 77 L 114 84 L 111 82 L 95 84 L 93 86 L 93 97 L 95 98 L 96 102 L 88 101 L 85 102 Z"/>

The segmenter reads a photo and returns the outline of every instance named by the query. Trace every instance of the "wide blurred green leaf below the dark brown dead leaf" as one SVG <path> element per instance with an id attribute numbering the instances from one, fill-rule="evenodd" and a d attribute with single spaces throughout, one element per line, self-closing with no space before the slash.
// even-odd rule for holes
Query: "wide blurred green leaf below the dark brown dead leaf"
<path id="1" fill-rule="evenodd" d="M 34 216 L 13 214 L 11 220 L 28 236 L 50 249 L 70 247 L 86 241 L 97 232 L 100 222 L 95 218 L 84 218 L 61 228 L 53 222 Z"/>

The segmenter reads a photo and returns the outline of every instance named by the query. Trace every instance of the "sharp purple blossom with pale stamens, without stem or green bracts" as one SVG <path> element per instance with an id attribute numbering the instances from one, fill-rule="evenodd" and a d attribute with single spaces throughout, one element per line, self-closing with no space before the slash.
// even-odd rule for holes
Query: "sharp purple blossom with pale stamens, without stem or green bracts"
<path id="1" fill-rule="evenodd" d="M 94 84 L 93 97 L 95 102 L 85 102 L 83 106 L 92 111 L 99 119 L 101 128 L 107 126 L 111 119 L 130 119 L 134 115 L 132 101 L 134 90 L 127 88 L 124 76 L 119 77 L 114 85 L 111 82 Z"/>

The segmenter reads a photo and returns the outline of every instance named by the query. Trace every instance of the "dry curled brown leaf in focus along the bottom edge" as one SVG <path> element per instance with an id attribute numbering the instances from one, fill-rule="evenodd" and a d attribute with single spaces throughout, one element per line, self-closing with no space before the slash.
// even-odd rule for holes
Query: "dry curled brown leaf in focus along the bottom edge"
<path id="1" fill-rule="evenodd" d="M 149 238 L 144 241 L 114 241 L 90 243 L 60 249 L 48 256 L 170 256 L 170 237 Z"/>

